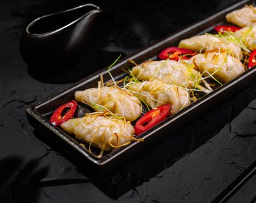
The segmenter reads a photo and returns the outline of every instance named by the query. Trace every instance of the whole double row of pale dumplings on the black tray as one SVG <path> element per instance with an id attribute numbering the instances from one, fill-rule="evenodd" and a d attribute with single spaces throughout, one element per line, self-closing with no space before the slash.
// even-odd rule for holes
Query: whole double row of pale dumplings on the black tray
<path id="1" fill-rule="evenodd" d="M 245 27 L 236 32 L 204 34 L 182 40 L 179 48 L 196 54 L 189 58 L 149 60 L 135 65 L 123 86 L 90 88 L 75 92 L 75 100 L 87 104 L 95 112 L 74 118 L 61 128 L 89 145 L 103 151 L 129 145 L 136 138 L 131 122 L 142 115 L 142 104 L 150 109 L 169 104 L 169 115 L 189 106 L 191 92 L 210 93 L 206 79 L 226 83 L 246 71 L 246 53 L 256 48 L 255 8 L 246 6 L 226 15 L 228 22 Z M 209 80 L 208 80 L 209 81 Z"/>

